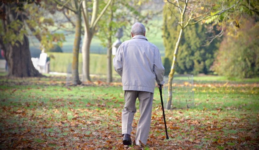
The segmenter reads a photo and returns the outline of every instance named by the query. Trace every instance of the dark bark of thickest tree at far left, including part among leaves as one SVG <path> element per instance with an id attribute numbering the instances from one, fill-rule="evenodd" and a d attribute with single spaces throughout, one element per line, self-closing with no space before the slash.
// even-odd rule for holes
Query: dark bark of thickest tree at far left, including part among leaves
<path id="1" fill-rule="evenodd" d="M 2 10 L 5 14 L 5 20 L 2 21 L 2 29 L 4 33 L 6 31 L 13 30 L 9 27 L 12 21 L 19 20 L 23 22 L 22 13 L 17 13 L 15 9 L 17 5 L 15 4 L 2 4 Z M 21 27 L 17 30 L 13 30 L 15 35 L 19 35 Z M 5 52 L 5 60 L 8 64 L 8 76 L 9 77 L 39 77 L 42 76 L 39 71 L 37 71 L 31 61 L 29 40 L 26 35 L 23 34 L 23 41 L 20 42 L 16 40 L 13 44 L 11 42 L 4 42 L 3 37 L 0 37 L 0 48 Z"/>

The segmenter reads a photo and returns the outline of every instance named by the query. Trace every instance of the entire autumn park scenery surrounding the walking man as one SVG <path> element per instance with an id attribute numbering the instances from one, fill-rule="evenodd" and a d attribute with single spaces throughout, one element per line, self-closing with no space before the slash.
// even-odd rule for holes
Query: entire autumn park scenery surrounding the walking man
<path id="1" fill-rule="evenodd" d="M 112 59 L 136 22 L 169 139 L 155 88 L 147 144 L 137 100 L 123 145 Z M 0 49 L 0 149 L 259 149 L 258 0 L 0 0 Z"/>

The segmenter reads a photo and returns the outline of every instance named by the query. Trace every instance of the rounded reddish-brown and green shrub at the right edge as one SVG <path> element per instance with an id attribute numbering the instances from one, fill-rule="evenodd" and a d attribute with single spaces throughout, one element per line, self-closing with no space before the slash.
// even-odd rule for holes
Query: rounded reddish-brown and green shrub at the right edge
<path id="1" fill-rule="evenodd" d="M 246 20 L 240 24 L 244 25 L 237 29 L 236 35 L 230 31 L 221 42 L 213 69 L 227 77 L 256 77 L 259 75 L 259 22 Z"/>

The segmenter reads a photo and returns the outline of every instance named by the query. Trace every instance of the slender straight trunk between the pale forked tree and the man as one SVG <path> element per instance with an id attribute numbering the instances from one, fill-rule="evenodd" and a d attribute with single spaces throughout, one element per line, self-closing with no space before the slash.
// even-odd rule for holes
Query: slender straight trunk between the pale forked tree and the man
<path id="1" fill-rule="evenodd" d="M 111 16 L 109 20 L 109 27 L 108 27 L 108 41 L 107 41 L 107 80 L 106 82 L 112 82 L 112 20 L 113 20 L 113 11 L 111 5 Z"/>

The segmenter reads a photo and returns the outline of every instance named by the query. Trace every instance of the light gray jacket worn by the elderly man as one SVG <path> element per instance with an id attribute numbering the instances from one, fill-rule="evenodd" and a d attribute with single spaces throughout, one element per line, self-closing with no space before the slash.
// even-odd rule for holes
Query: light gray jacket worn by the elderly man
<path id="1" fill-rule="evenodd" d="M 122 77 L 122 90 L 154 93 L 155 81 L 159 85 L 165 82 L 159 50 L 143 35 L 135 35 L 119 46 L 113 66 Z"/>

